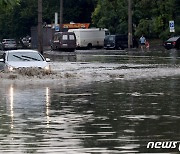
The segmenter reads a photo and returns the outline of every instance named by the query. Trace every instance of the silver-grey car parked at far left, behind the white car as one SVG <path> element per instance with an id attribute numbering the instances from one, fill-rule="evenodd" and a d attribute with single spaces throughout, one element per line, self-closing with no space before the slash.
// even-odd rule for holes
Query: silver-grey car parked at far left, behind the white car
<path id="1" fill-rule="evenodd" d="M 2 50 L 17 49 L 15 39 L 3 39 L 1 46 Z"/>

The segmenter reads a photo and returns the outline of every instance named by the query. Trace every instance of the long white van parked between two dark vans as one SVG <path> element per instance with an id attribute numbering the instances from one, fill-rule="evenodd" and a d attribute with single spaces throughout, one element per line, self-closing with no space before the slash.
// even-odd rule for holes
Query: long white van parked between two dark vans
<path id="1" fill-rule="evenodd" d="M 107 29 L 102 28 L 89 28 L 89 29 L 69 29 L 68 32 L 74 32 L 76 35 L 77 48 L 86 47 L 91 49 L 102 48 L 104 46 L 104 38 Z"/>

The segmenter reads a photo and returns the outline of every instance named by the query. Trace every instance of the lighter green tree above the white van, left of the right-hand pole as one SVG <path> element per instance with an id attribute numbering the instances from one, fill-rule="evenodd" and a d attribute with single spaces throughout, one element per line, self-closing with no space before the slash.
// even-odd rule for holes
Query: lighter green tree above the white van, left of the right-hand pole
<path id="1" fill-rule="evenodd" d="M 111 33 L 127 33 L 127 2 L 120 0 L 98 0 L 92 14 L 95 26 L 108 28 Z"/>

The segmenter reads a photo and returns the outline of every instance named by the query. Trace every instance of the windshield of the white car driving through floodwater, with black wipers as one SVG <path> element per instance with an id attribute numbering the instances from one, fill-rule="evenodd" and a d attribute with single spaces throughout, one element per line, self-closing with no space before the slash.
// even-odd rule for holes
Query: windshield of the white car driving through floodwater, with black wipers
<path id="1" fill-rule="evenodd" d="M 7 61 L 44 61 L 36 52 L 10 52 Z"/>

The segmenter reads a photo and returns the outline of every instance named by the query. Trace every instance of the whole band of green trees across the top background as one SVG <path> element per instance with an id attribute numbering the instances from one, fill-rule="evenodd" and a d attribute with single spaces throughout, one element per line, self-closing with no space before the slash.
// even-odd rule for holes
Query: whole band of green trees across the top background
<path id="1" fill-rule="evenodd" d="M 54 23 L 59 0 L 43 0 L 43 22 Z M 133 35 L 166 39 L 180 33 L 180 0 L 132 0 Z M 175 21 L 175 34 L 169 32 Z M 127 0 L 64 0 L 64 23 L 90 22 L 112 34 L 128 33 Z M 37 26 L 37 0 L 0 0 L 0 39 L 30 35 Z"/>

